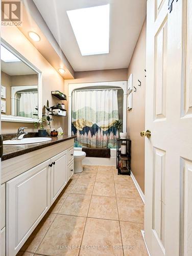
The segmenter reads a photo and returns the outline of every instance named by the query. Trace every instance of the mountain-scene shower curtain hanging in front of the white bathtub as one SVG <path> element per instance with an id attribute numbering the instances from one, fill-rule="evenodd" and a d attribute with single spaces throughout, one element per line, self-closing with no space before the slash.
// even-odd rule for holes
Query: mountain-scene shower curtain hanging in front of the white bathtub
<path id="1" fill-rule="evenodd" d="M 118 119 L 117 90 L 74 91 L 72 134 L 75 147 L 115 148 Z"/>

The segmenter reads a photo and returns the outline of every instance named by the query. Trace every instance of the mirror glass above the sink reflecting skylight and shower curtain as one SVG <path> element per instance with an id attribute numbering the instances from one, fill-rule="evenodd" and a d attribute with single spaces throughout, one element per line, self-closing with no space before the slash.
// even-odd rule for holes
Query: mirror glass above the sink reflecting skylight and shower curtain
<path id="1" fill-rule="evenodd" d="M 2 114 L 37 118 L 38 73 L 1 45 Z"/>

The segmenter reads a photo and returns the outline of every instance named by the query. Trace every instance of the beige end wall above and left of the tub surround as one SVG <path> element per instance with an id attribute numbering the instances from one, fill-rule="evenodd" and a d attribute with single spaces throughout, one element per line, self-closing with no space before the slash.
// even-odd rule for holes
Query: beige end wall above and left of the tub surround
<path id="1" fill-rule="evenodd" d="M 75 72 L 76 79 L 65 80 L 65 94 L 67 101 L 65 108 L 68 110 L 68 84 L 70 83 L 85 83 L 85 82 L 110 82 L 110 81 L 126 81 L 127 69 L 110 69 L 110 70 L 95 70 Z M 68 119 L 65 121 L 65 131 L 68 129 Z"/>

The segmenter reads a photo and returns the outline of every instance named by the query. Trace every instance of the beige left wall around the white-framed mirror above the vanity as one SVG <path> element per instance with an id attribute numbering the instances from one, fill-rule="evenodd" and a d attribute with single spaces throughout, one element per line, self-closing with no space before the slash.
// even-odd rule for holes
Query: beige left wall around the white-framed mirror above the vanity
<path id="1" fill-rule="evenodd" d="M 1 37 L 42 72 L 42 105 L 46 104 L 47 99 L 50 105 L 56 104 L 58 100 L 51 96 L 51 91 L 64 92 L 63 78 L 17 28 L 2 27 Z M 54 117 L 52 127 L 64 128 L 64 121 L 64 117 Z M 15 133 L 22 125 L 28 127 L 28 132 L 36 131 L 33 123 L 2 122 L 2 133 Z"/>

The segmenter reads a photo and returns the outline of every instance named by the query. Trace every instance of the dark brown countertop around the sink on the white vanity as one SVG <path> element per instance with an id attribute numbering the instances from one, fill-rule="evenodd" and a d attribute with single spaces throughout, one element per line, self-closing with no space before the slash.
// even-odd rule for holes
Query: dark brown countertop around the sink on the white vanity
<path id="1" fill-rule="evenodd" d="M 74 139 L 76 136 L 67 136 L 67 135 L 61 135 L 58 137 L 49 137 L 52 138 L 50 141 L 46 142 L 40 142 L 40 143 L 34 143 L 34 144 L 23 144 L 23 145 L 4 145 L 3 146 L 3 156 L 2 161 L 5 161 L 7 159 L 21 156 L 23 154 L 40 150 L 40 148 L 51 146 L 66 140 Z"/>

